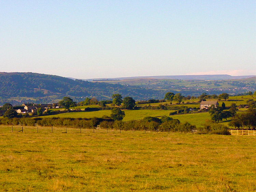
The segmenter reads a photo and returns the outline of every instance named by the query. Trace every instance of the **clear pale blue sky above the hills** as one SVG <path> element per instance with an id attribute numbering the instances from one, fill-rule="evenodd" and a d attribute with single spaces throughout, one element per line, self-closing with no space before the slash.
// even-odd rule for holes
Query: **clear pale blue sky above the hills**
<path id="1" fill-rule="evenodd" d="M 0 1 L 0 71 L 256 74 L 255 0 Z"/>

